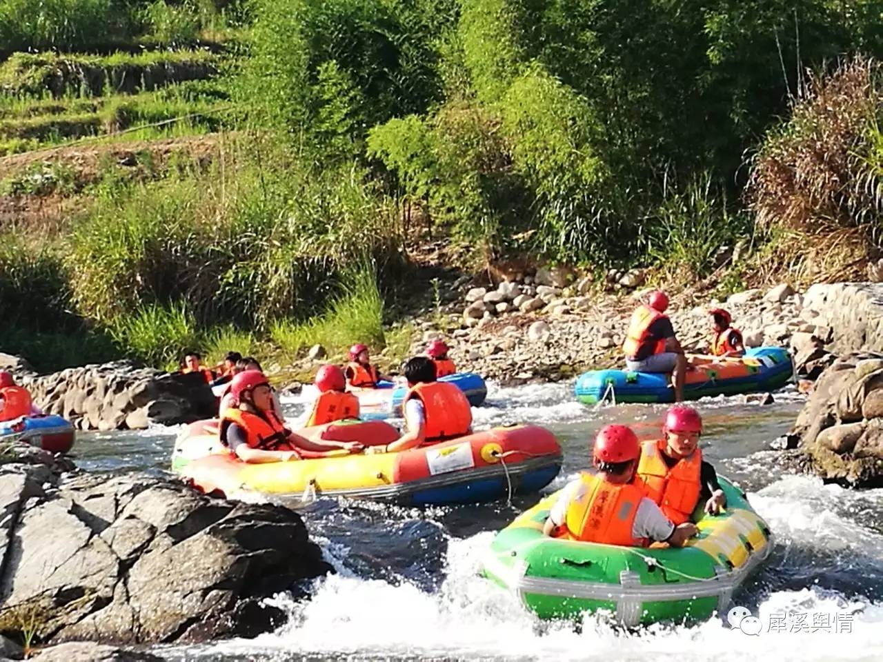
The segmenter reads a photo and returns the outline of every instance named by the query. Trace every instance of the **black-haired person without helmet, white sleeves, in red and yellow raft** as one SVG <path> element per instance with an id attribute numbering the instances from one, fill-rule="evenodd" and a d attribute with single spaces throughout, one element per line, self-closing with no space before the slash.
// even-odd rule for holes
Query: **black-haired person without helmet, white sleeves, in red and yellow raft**
<path id="1" fill-rule="evenodd" d="M 409 391 L 404 396 L 405 433 L 387 446 L 372 446 L 366 453 L 392 453 L 472 432 L 472 407 L 463 391 L 435 380 L 435 364 L 429 357 L 413 357 L 404 365 Z"/>

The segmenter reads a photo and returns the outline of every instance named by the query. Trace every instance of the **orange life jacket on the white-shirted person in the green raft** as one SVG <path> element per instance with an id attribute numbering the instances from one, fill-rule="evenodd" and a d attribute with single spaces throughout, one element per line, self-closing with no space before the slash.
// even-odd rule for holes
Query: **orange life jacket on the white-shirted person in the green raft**
<path id="1" fill-rule="evenodd" d="M 598 476 L 583 474 L 583 495 L 570 502 L 564 526 L 556 538 L 604 545 L 644 546 L 632 535 L 638 506 L 645 494 L 635 483 L 614 485 Z"/>

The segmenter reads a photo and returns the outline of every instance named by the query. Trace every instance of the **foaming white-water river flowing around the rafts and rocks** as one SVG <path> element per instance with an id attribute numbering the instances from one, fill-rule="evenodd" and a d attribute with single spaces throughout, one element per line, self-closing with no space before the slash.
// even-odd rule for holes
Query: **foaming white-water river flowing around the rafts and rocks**
<path id="1" fill-rule="evenodd" d="M 593 431 L 612 422 L 658 429 L 662 406 L 586 408 L 570 384 L 491 386 L 476 427 L 515 421 L 546 425 L 564 448 L 552 491 L 588 466 Z M 725 618 L 623 631 L 603 616 L 541 622 L 478 575 L 494 535 L 536 497 L 452 508 L 399 508 L 319 500 L 303 515 L 338 572 L 300 603 L 278 596 L 290 613 L 279 630 L 253 640 L 153 649 L 170 660 L 881 660 L 883 659 L 883 490 L 856 492 L 790 475 L 774 440 L 803 403 L 793 390 L 759 406 L 741 398 L 698 403 L 703 448 L 716 469 L 740 482 L 775 535 L 766 565 L 734 603 L 760 619 L 757 636 Z M 298 417 L 305 403 L 283 402 Z M 79 465 L 92 471 L 163 472 L 177 430 L 92 433 L 78 442 Z M 786 614 L 789 616 L 786 618 Z"/>

